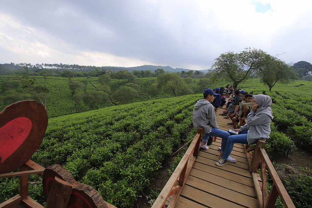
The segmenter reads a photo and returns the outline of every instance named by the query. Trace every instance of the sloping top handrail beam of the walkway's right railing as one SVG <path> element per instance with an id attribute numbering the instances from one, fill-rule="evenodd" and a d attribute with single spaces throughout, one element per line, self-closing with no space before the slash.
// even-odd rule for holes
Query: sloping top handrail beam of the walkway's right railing
<path id="1" fill-rule="evenodd" d="M 277 172 L 275 171 L 275 168 L 272 165 L 271 160 L 269 159 L 268 155 L 266 154 L 266 151 L 263 148 L 261 148 L 260 151 L 261 151 L 262 157 L 264 159 L 263 162 L 266 163 L 266 167 L 268 168 L 268 171 L 271 174 L 271 177 L 274 181 L 274 184 L 277 188 L 277 191 L 280 195 L 280 198 L 283 201 L 284 206 L 286 208 L 288 208 L 288 207 L 295 208 L 294 203 L 292 202 L 290 196 L 288 195 L 288 192 L 286 191 L 282 181 L 280 180 L 280 177 L 277 175 Z"/>

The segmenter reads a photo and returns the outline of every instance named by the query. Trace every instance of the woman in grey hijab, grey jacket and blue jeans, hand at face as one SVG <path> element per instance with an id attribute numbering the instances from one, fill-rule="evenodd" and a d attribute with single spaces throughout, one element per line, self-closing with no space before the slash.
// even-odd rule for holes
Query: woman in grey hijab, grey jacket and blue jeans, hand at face
<path id="1" fill-rule="evenodd" d="M 258 139 L 266 141 L 266 139 L 270 138 L 271 120 L 273 119 L 270 108 L 272 99 L 270 96 L 264 94 L 254 95 L 252 99 L 253 106 L 247 116 L 247 123 L 239 129 L 233 129 L 239 134 L 229 136 L 227 143 L 221 145 L 221 148 L 219 148 L 221 159 L 216 162 L 217 166 L 227 164 L 227 158 L 232 152 L 234 143 L 255 144 Z"/>

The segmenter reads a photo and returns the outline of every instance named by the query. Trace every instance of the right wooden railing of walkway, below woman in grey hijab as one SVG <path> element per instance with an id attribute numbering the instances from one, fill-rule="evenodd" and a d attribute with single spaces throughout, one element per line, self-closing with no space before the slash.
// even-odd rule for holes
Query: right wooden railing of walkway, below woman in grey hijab
<path id="1" fill-rule="evenodd" d="M 280 177 L 277 175 L 275 168 L 273 167 L 266 151 L 264 149 L 265 141 L 259 139 L 257 144 L 251 148 L 248 145 L 245 146 L 247 160 L 249 163 L 249 172 L 252 174 L 253 182 L 255 185 L 257 198 L 259 201 L 260 208 L 270 208 L 274 207 L 277 197 L 280 195 L 280 198 L 286 208 L 294 207 L 294 203 L 291 201 L 290 196 L 288 195 Z M 253 156 L 251 157 L 251 151 L 254 151 Z M 261 186 L 259 184 L 260 175 L 257 173 L 258 167 L 261 168 Z M 268 169 L 272 179 L 273 184 L 270 190 L 270 194 L 267 194 L 267 181 L 266 181 L 266 168 Z"/>

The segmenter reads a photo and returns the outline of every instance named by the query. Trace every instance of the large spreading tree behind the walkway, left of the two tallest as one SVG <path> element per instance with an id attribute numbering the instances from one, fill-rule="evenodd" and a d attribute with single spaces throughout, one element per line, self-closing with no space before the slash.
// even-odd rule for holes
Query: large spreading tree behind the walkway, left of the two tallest
<path id="1" fill-rule="evenodd" d="M 211 80 L 225 79 L 233 83 L 236 88 L 241 82 L 246 81 L 253 73 L 257 73 L 265 64 L 268 54 L 262 50 L 245 48 L 240 53 L 232 51 L 221 54 L 212 65 Z"/>

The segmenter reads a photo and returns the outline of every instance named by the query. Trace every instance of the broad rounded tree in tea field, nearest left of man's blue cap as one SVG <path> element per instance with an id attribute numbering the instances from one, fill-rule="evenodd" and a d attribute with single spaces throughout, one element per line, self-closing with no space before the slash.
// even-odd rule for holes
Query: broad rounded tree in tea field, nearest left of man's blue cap
<path id="1" fill-rule="evenodd" d="M 188 84 L 177 73 L 162 74 L 157 77 L 158 89 L 173 93 L 174 96 L 193 94 Z"/>

